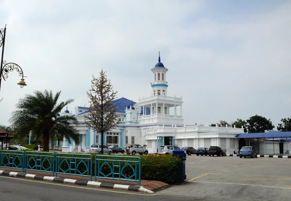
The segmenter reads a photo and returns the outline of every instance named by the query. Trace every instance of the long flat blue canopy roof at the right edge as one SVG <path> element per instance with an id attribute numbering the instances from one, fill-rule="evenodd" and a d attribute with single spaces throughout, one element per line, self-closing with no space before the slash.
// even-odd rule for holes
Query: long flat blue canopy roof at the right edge
<path id="1" fill-rule="evenodd" d="M 268 133 L 250 133 L 250 134 L 238 134 L 237 138 L 275 138 L 275 137 L 291 137 L 290 131 L 272 131 Z"/>

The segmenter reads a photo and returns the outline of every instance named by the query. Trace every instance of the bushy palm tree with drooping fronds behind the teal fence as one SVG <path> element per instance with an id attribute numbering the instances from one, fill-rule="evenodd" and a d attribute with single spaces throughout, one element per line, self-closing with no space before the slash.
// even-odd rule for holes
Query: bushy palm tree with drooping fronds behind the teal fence
<path id="1" fill-rule="evenodd" d="M 16 103 L 16 110 L 12 112 L 10 122 L 18 131 L 17 133 L 32 132 L 32 138 L 43 138 L 43 150 L 49 151 L 49 140 L 54 137 L 73 139 L 79 144 L 81 139 L 78 130 L 70 124 L 75 124 L 77 119 L 72 116 L 57 117 L 57 113 L 73 99 L 57 103 L 61 91 L 54 96 L 50 91 L 34 91 L 33 95 L 25 95 Z"/>

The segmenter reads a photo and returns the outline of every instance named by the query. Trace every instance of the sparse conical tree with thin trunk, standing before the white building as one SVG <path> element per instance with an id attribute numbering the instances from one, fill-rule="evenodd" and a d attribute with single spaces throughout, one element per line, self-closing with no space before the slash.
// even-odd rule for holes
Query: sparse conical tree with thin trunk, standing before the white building
<path id="1" fill-rule="evenodd" d="M 90 107 L 85 122 L 87 126 L 101 134 L 101 145 L 103 145 L 103 134 L 111 131 L 119 123 L 116 105 L 113 105 L 117 91 L 113 91 L 111 82 L 103 69 L 98 78 L 92 76 L 91 89 L 87 91 Z M 103 146 L 101 147 L 101 153 L 103 153 Z"/>

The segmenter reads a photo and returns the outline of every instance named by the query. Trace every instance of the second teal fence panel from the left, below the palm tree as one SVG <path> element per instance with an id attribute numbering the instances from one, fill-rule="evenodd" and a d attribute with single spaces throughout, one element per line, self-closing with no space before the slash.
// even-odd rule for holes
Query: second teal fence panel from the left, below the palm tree
<path id="1" fill-rule="evenodd" d="M 53 152 L 26 151 L 24 173 L 26 173 L 26 170 L 33 170 L 51 172 L 54 176 L 54 163 L 55 154 Z"/>

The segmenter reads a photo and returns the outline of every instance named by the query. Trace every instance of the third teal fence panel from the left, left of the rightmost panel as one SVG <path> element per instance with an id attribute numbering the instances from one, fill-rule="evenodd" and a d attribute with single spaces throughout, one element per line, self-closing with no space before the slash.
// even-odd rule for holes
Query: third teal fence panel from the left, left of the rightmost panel
<path id="1" fill-rule="evenodd" d="M 56 154 L 56 177 L 58 174 L 68 174 L 90 177 L 92 181 L 92 155 L 91 154 Z"/>

